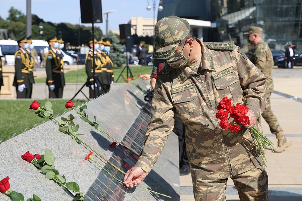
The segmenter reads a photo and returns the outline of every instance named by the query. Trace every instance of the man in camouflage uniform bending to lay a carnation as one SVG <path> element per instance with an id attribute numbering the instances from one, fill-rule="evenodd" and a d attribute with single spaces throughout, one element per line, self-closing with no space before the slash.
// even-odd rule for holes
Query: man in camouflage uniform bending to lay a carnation
<path id="1" fill-rule="evenodd" d="M 268 177 L 247 130 L 263 132 L 256 119 L 266 106 L 265 76 L 233 42 L 202 42 L 179 17 L 159 20 L 155 38 L 154 58 L 169 65 L 157 76 L 149 130 L 140 158 L 124 177 L 126 186 L 140 184 L 151 171 L 176 114 L 186 128 L 195 200 L 225 200 L 229 177 L 240 200 L 268 200 Z M 215 116 L 224 96 L 249 108 L 250 124 L 237 133 L 221 129 Z"/>

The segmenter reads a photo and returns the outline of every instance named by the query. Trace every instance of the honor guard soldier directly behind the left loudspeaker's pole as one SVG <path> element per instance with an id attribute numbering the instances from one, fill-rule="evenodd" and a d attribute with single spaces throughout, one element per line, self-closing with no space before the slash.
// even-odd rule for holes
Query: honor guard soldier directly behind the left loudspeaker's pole
<path id="1" fill-rule="evenodd" d="M 93 49 L 94 43 L 94 50 Z M 85 57 L 85 68 L 87 74 L 86 86 L 89 87 L 89 98 L 96 98 L 101 95 L 100 91 L 102 90 L 102 62 L 97 53 L 99 48 L 99 43 L 97 39 L 92 39 L 92 37 L 87 41 L 87 45 L 90 48 L 89 52 Z M 94 61 L 93 61 L 94 57 Z M 95 72 L 95 77 L 93 75 Z"/>

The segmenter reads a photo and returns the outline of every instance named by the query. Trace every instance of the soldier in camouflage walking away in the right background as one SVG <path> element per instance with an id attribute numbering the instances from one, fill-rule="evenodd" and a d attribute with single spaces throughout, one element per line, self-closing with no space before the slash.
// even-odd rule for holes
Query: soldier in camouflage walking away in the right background
<path id="1" fill-rule="evenodd" d="M 252 63 L 259 68 L 259 70 L 266 77 L 266 100 L 267 105 L 262 113 L 262 117 L 268 123 L 271 133 L 274 133 L 278 139 L 278 147 L 274 149 L 274 152 L 283 152 L 286 147 L 291 146 L 291 142 L 285 137 L 283 130 L 271 110 L 271 93 L 274 89 L 273 79 L 271 77 L 271 71 L 274 66 L 274 59 L 268 45 L 262 40 L 263 29 L 261 27 L 249 27 L 249 32 L 244 34 L 248 35 L 248 42 L 255 46 L 254 52 L 251 57 Z M 258 118 L 261 124 L 260 118 Z"/>

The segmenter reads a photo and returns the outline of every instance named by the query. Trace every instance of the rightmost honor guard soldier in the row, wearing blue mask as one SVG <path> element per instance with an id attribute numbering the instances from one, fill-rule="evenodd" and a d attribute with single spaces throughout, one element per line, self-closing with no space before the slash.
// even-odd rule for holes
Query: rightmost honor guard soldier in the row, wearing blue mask
<path id="1" fill-rule="evenodd" d="M 111 47 L 112 40 L 110 38 L 104 38 L 103 44 L 104 44 L 104 51 L 106 54 L 105 62 L 106 62 L 106 83 L 104 84 L 104 88 L 106 92 L 109 92 L 110 86 L 113 84 L 114 81 L 114 74 L 113 74 L 113 62 L 112 57 L 110 54 L 110 47 Z M 103 91 L 103 93 L 105 93 Z"/>

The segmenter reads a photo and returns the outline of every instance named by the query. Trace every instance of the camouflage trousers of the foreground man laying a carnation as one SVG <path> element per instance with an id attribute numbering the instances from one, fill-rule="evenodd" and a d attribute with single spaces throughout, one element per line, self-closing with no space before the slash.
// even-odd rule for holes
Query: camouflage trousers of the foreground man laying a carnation
<path id="1" fill-rule="evenodd" d="M 254 168 L 230 177 L 241 201 L 269 201 L 268 176 L 265 169 Z M 196 201 L 225 201 L 226 179 L 204 180 L 192 177 Z"/>

